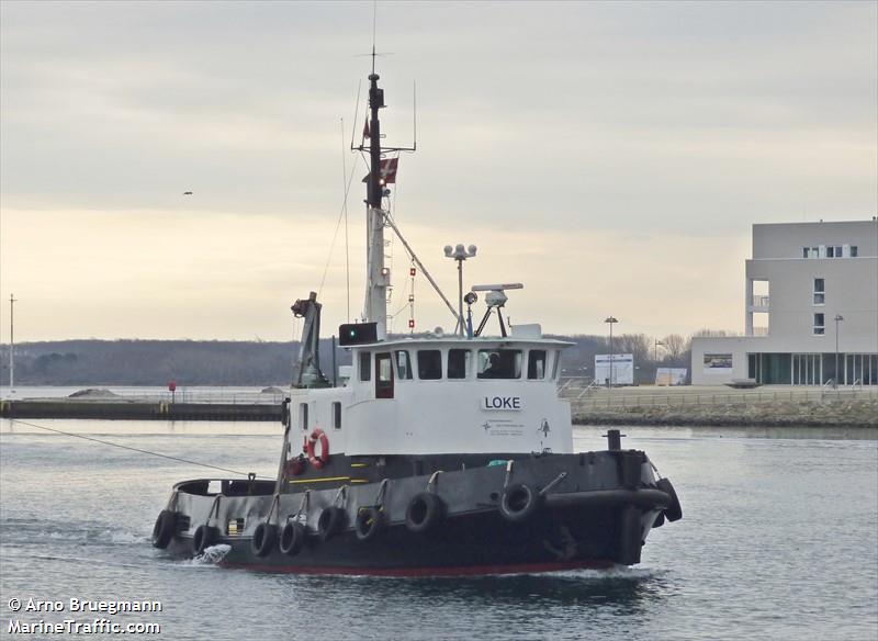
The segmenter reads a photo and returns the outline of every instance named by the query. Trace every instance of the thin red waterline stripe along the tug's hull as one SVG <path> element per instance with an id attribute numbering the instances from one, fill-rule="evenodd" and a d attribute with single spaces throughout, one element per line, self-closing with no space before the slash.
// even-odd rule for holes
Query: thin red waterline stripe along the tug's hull
<path id="1" fill-rule="evenodd" d="M 473 576 L 481 574 L 527 574 L 532 572 L 561 572 L 563 570 L 606 570 L 611 561 L 558 561 L 553 563 L 519 563 L 514 565 L 462 565 L 455 567 L 330 567 L 315 565 L 264 565 L 225 563 L 225 567 L 239 567 L 255 572 L 283 572 L 289 574 L 344 574 L 360 576 Z"/>

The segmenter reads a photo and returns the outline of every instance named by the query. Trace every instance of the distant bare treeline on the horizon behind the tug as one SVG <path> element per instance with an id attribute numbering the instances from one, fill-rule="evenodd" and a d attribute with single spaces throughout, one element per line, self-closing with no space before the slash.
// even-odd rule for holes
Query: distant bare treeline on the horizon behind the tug
<path id="1" fill-rule="evenodd" d="M 708 334 L 708 330 L 698 333 Z M 714 333 L 719 334 L 719 333 Z M 564 350 L 564 375 L 594 374 L 595 355 L 609 351 L 606 336 L 552 336 Z M 689 368 L 689 339 L 622 334 L 615 353 L 633 353 L 637 382 L 655 380 L 657 367 Z M 289 385 L 297 342 L 229 340 L 53 340 L 15 345 L 16 385 Z M 331 379 L 331 341 L 320 341 L 320 363 Z M 338 348 L 336 364 L 350 364 Z M 9 346 L 0 345 L 0 384 L 9 384 Z"/>

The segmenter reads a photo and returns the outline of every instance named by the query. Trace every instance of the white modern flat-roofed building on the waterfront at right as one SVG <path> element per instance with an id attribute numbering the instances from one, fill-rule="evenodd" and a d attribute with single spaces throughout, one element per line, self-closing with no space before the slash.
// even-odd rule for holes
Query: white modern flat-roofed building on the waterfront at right
<path id="1" fill-rule="evenodd" d="M 693 384 L 878 385 L 878 218 L 753 225 L 744 295 L 744 336 L 693 339 Z"/>

